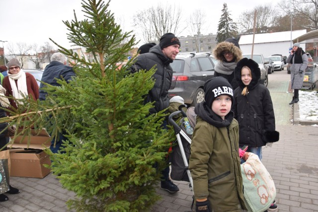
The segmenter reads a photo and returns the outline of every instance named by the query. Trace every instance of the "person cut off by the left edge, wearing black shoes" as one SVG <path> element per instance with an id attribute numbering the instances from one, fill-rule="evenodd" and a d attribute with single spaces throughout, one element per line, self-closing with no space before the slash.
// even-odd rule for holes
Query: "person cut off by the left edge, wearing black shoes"
<path id="1" fill-rule="evenodd" d="M 0 85 L 0 107 L 7 108 L 10 106 L 9 100 L 4 96 L 6 90 Z M 0 118 L 6 117 L 6 113 L 3 109 L 0 108 Z M 0 132 L 3 131 L 4 128 L 7 127 L 7 123 L 0 123 Z M 1 151 L 7 150 L 6 144 L 9 142 L 7 137 L 5 136 L 6 131 L 3 131 L 0 134 L 0 149 L 3 148 Z M 10 190 L 7 191 L 7 194 L 18 194 L 20 193 L 20 190 L 17 188 L 13 188 L 11 185 L 9 185 Z M 9 200 L 9 198 L 5 194 L 0 194 L 0 202 L 5 202 Z"/>

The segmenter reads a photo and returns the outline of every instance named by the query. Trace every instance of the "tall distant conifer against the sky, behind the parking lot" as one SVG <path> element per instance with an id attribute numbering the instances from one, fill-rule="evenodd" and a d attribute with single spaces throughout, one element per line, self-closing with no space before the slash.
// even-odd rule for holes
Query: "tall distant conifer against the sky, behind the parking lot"
<path id="1" fill-rule="evenodd" d="M 228 10 L 227 3 L 223 3 L 221 18 L 219 20 L 217 43 L 225 41 L 227 38 L 235 38 L 238 33 L 237 24 L 233 22 Z"/>

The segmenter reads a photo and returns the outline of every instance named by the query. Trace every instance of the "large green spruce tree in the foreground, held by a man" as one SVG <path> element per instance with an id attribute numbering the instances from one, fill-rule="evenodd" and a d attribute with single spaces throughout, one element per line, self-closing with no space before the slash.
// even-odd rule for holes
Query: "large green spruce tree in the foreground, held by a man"
<path id="1" fill-rule="evenodd" d="M 52 135 L 67 132 L 65 153 L 45 151 L 62 186 L 77 195 L 67 202 L 70 209 L 145 211 L 159 200 L 154 185 L 173 136 L 161 129 L 164 111 L 149 115 L 153 103 L 144 105 L 154 86 L 155 68 L 130 74 L 133 58 L 119 70 L 116 63 L 127 58 L 135 36 L 115 23 L 109 1 L 82 0 L 81 4 L 85 19 L 79 21 L 74 11 L 74 20 L 64 24 L 68 39 L 85 48 L 93 60 L 86 61 L 53 41 L 75 61 L 76 77 L 69 83 L 58 80 L 58 87 L 47 84 L 45 101 L 25 98 L 0 122 L 23 127 L 24 135 L 30 134 L 31 127 L 46 127 Z"/>

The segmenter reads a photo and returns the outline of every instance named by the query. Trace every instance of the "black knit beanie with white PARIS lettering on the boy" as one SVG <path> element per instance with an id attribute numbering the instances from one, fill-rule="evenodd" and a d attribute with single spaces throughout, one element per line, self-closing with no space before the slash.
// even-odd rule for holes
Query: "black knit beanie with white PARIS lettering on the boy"
<path id="1" fill-rule="evenodd" d="M 234 102 L 233 88 L 229 81 L 223 76 L 216 76 L 204 83 L 204 100 L 209 108 L 211 108 L 214 99 L 223 94 L 229 95 Z"/>

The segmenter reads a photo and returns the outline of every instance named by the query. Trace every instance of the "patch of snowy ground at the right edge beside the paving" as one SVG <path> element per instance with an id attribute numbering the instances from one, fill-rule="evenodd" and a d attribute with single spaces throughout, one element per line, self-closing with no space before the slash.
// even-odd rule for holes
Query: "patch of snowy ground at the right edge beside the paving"
<path id="1" fill-rule="evenodd" d="M 318 121 L 318 91 L 299 90 L 300 120 Z"/>

